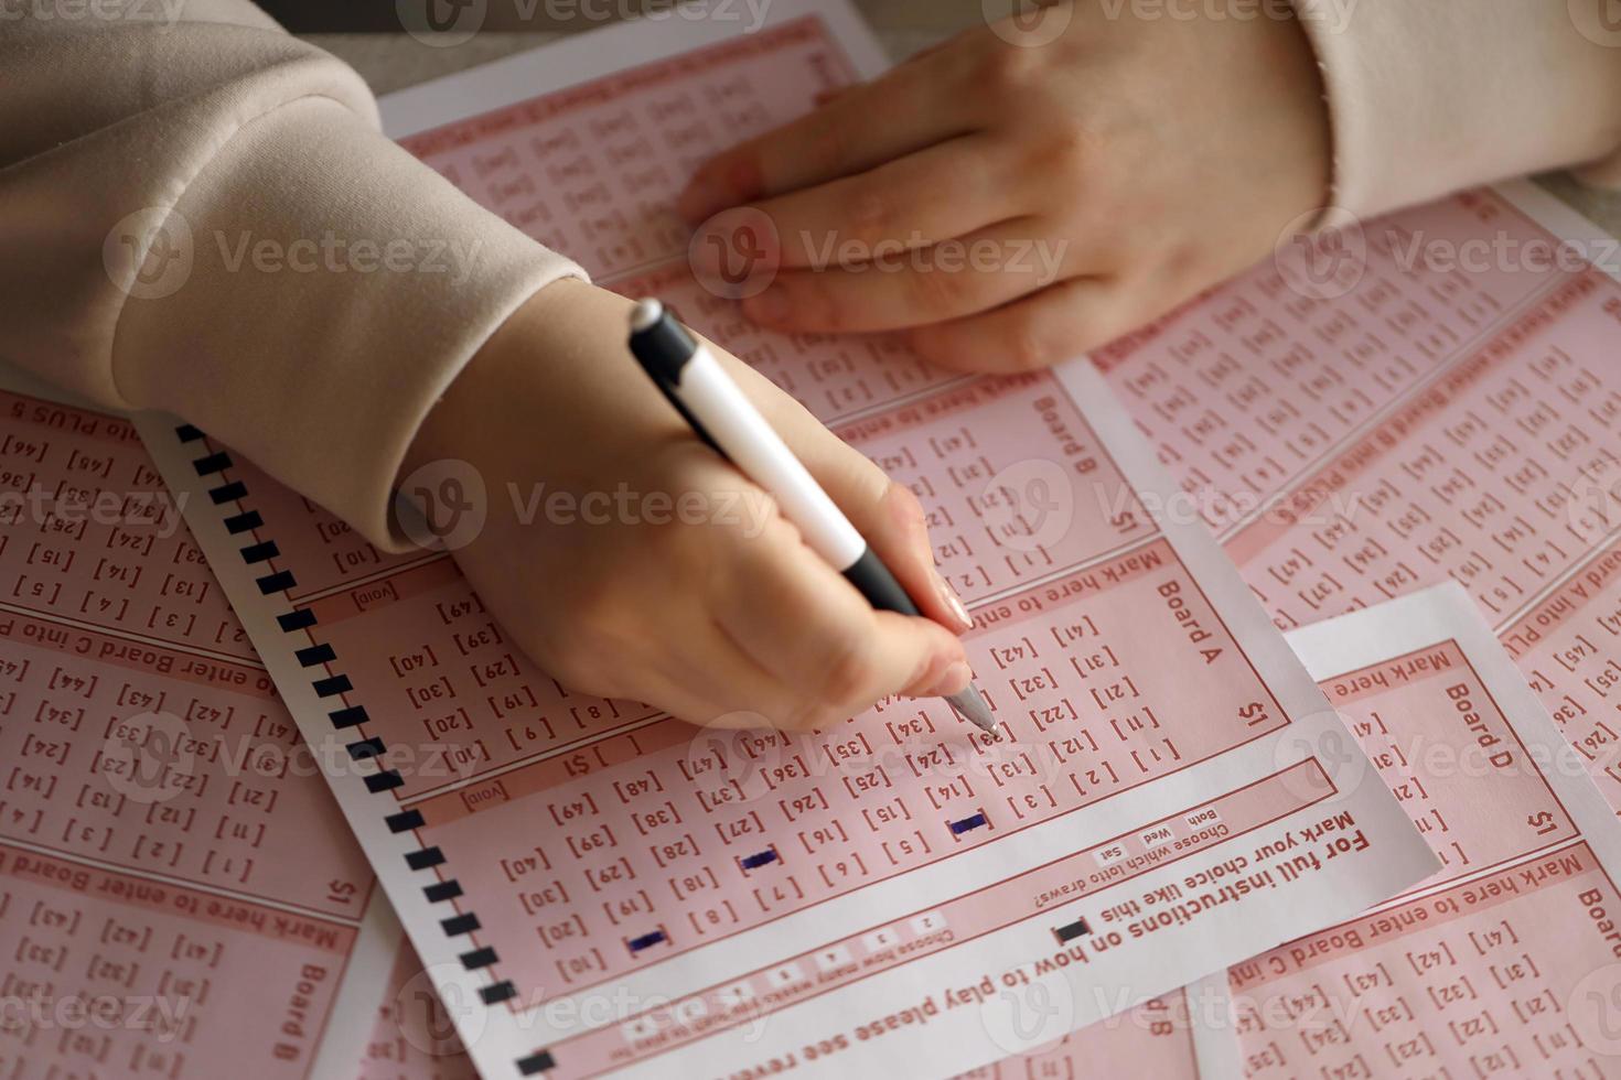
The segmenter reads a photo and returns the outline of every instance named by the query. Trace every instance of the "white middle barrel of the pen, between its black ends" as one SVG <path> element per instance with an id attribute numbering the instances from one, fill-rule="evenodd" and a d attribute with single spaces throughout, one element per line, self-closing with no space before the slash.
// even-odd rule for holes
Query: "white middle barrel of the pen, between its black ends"
<path id="1" fill-rule="evenodd" d="M 840 572 L 861 559 L 867 549 L 861 533 L 702 342 L 681 369 L 678 393 L 742 474 L 776 499 L 815 554 Z"/>

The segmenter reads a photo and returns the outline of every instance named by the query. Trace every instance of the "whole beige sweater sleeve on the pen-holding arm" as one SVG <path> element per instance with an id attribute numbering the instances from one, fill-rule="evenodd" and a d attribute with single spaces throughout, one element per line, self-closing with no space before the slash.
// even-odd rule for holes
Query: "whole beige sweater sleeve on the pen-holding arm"
<path id="1" fill-rule="evenodd" d="M 394 547 L 394 474 L 567 259 L 386 139 L 248 0 L 0 18 L 0 358 L 196 423 Z M 47 18 L 49 16 L 49 18 Z"/>

